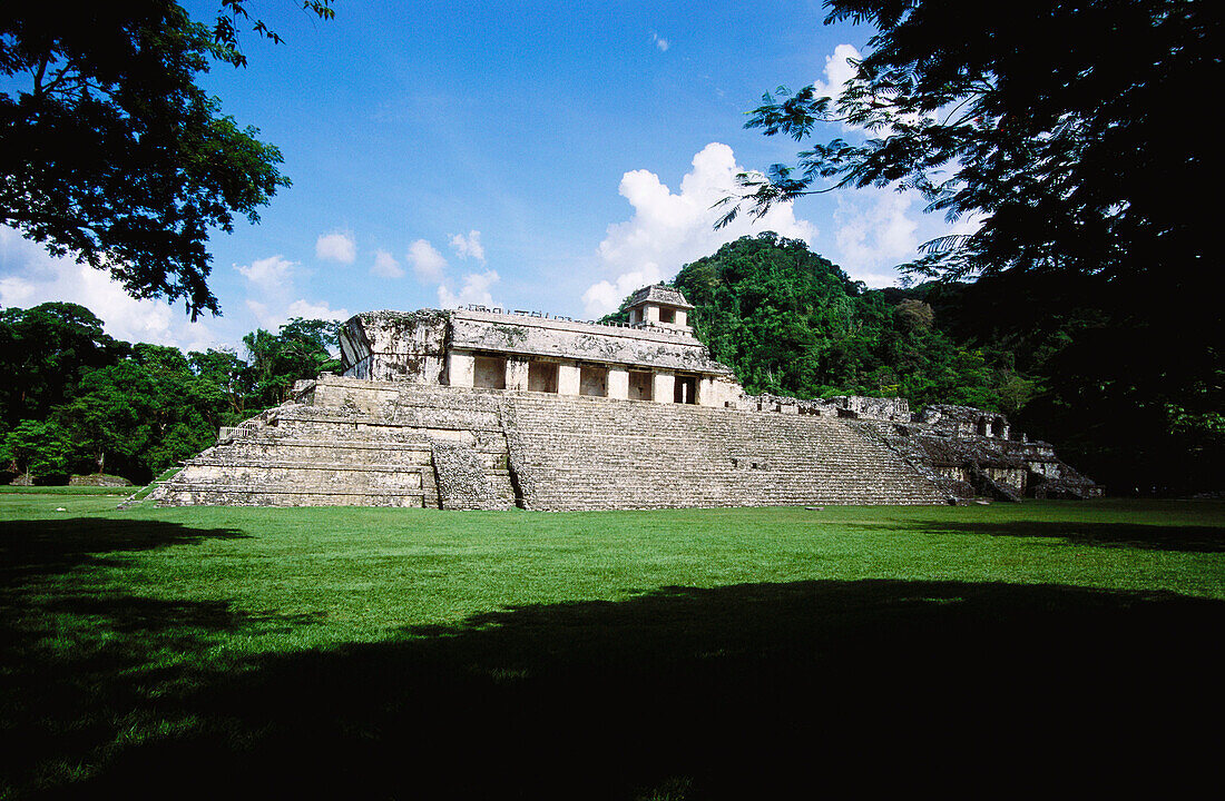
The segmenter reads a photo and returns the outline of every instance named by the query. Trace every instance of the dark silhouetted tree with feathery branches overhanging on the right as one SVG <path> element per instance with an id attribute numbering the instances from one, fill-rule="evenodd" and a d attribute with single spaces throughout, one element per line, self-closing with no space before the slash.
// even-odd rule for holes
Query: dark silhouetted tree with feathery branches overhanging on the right
<path id="1" fill-rule="evenodd" d="M 929 210 L 970 216 L 975 232 L 926 243 L 903 269 L 978 279 L 957 292 L 959 335 L 1002 344 L 1044 375 L 1030 411 L 1065 452 L 1142 489 L 1219 474 L 1225 327 L 1208 291 L 1215 205 L 1204 197 L 1221 154 L 1188 121 L 1203 87 L 1220 83 L 1221 5 L 826 7 L 827 23 L 876 28 L 843 93 L 780 88 L 747 127 L 805 141 L 837 122 L 865 136 L 741 175 L 720 221 L 866 186 L 916 190 Z"/>

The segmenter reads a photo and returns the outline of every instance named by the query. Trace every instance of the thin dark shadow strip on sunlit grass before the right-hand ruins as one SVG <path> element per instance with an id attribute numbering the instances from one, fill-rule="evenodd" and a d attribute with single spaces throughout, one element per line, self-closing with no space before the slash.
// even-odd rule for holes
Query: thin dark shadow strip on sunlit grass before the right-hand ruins
<path id="1" fill-rule="evenodd" d="M 956 521 L 891 521 L 889 523 L 854 523 L 862 528 L 907 530 L 926 533 L 987 534 L 990 537 L 1045 537 L 1066 539 L 1074 545 L 1140 548 L 1145 550 L 1178 550 L 1216 554 L 1225 552 L 1225 527 L 1221 526 L 1152 526 L 1134 523 L 1094 523 L 1061 520 L 1042 522 L 956 522 Z"/>

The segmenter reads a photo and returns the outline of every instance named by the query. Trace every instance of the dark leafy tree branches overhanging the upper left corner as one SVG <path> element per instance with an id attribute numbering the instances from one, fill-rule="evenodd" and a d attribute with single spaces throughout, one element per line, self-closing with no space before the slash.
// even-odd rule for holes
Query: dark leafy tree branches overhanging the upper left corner
<path id="1" fill-rule="evenodd" d="M 303 7 L 332 16 L 331 0 Z M 10 2 L 0 10 L 0 223 L 108 270 L 134 297 L 218 313 L 209 229 L 255 223 L 289 185 L 281 152 L 196 84 L 213 61 L 241 66 L 244 0 L 194 21 L 170 0 Z"/>

